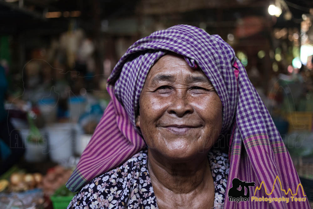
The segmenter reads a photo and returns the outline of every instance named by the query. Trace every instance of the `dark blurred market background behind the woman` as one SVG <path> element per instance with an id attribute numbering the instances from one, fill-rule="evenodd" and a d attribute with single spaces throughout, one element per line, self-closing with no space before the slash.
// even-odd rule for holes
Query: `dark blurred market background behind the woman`
<path id="1" fill-rule="evenodd" d="M 176 24 L 234 48 L 313 201 L 312 0 L 0 0 L 0 19 L 0 208 L 67 206 L 110 72 Z"/>

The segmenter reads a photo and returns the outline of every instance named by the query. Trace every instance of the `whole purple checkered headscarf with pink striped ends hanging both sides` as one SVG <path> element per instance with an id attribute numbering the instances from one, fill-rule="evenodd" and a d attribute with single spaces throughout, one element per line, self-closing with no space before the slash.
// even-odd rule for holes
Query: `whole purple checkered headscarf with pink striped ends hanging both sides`
<path id="1" fill-rule="evenodd" d="M 135 126 L 139 97 L 150 68 L 168 51 L 184 56 L 190 67 L 199 67 L 222 101 L 222 133 L 231 134 L 224 207 L 310 208 L 307 200 L 291 198 L 289 203 L 228 201 L 233 178 L 255 182 L 256 186 L 263 182 L 250 196 L 290 197 L 297 193 L 294 197 L 305 197 L 305 193 L 301 186 L 297 188 L 300 180 L 290 155 L 233 48 L 220 36 L 189 25 L 152 33 L 131 45 L 119 60 L 108 79 L 111 101 L 67 182 L 69 190 L 78 191 L 146 146 Z M 278 183 L 273 187 L 277 177 L 281 187 Z"/>

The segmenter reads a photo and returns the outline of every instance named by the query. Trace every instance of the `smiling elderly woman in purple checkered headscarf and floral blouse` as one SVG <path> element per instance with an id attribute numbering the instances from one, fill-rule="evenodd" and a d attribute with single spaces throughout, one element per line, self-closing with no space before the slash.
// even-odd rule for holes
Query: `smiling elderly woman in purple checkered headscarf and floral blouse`
<path id="1" fill-rule="evenodd" d="M 305 193 L 269 112 L 218 35 L 188 25 L 156 31 L 127 50 L 107 90 L 111 101 L 67 183 L 79 191 L 68 208 L 309 208 L 306 199 L 251 198 Z"/>

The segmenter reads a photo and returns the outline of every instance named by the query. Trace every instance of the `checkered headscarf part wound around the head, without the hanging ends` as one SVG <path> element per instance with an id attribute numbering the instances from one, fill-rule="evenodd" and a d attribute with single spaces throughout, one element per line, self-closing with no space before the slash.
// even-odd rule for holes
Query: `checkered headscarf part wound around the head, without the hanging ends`
<path id="1" fill-rule="evenodd" d="M 173 26 L 138 40 L 115 66 L 108 82 L 115 83 L 115 95 L 124 105 L 132 124 L 135 125 L 139 97 L 148 72 L 167 51 L 184 56 L 191 67 L 197 63 L 208 78 L 214 78 L 210 81 L 223 103 L 222 130 L 227 131 L 232 124 L 237 101 L 237 84 L 232 70 L 235 53 L 220 36 L 210 36 L 204 30 L 189 25 Z"/>

